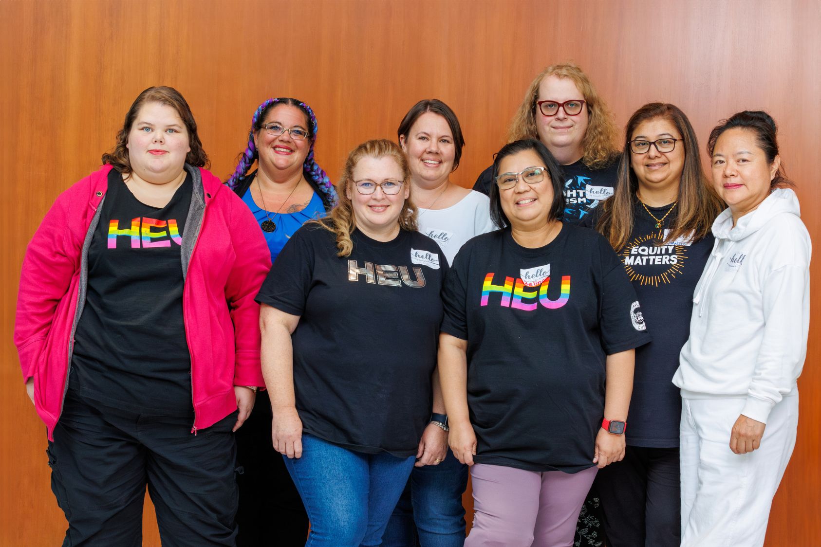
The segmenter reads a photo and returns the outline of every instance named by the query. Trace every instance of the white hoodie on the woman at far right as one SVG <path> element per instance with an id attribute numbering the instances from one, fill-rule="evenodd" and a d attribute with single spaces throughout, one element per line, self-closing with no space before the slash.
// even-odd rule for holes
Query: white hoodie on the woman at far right
<path id="1" fill-rule="evenodd" d="M 686 399 L 745 398 L 741 414 L 766 423 L 804 366 L 810 234 L 796 193 L 776 189 L 735 228 L 726 209 L 713 235 L 672 382 Z"/>

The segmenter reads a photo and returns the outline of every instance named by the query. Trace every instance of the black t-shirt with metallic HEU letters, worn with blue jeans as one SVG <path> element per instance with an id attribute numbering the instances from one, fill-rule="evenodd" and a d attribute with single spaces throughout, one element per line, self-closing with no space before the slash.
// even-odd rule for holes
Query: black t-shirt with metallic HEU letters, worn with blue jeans
<path id="1" fill-rule="evenodd" d="M 300 316 L 291 335 L 303 431 L 365 454 L 416 454 L 432 404 L 447 259 L 419 232 L 392 241 L 314 222 L 291 236 L 257 301 Z"/>

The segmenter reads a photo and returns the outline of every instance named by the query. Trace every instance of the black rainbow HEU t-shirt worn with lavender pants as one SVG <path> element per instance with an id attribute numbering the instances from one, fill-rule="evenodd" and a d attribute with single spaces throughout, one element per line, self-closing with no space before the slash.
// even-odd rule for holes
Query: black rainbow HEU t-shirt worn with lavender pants
<path id="1" fill-rule="evenodd" d="M 649 341 L 624 268 L 593 230 L 568 224 L 541 248 L 510 228 L 456 255 L 443 332 L 467 340 L 475 461 L 529 471 L 592 467 L 606 358 Z"/>

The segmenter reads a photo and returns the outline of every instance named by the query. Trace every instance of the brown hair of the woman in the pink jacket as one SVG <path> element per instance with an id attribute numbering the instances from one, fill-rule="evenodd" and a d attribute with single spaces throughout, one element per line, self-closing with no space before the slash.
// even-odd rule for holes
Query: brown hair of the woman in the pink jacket
<path id="1" fill-rule="evenodd" d="M 131 108 L 126 113 L 126 121 L 122 124 L 122 130 L 117 133 L 117 144 L 114 145 L 114 149 L 110 153 L 103 154 L 103 163 L 114 166 L 114 169 L 123 175 L 131 173 L 131 162 L 128 159 L 126 144 L 137 113 L 140 112 L 140 108 L 145 103 L 160 103 L 177 111 L 177 115 L 180 116 L 180 119 L 186 125 L 186 130 L 188 130 L 188 145 L 191 150 L 186 154 L 186 163 L 195 167 L 207 168 L 209 166 L 208 155 L 203 150 L 200 135 L 197 134 L 197 122 L 194 121 L 194 114 L 191 113 L 186 99 L 182 97 L 180 92 L 165 85 L 150 87 L 137 95 L 134 103 L 131 103 Z"/>

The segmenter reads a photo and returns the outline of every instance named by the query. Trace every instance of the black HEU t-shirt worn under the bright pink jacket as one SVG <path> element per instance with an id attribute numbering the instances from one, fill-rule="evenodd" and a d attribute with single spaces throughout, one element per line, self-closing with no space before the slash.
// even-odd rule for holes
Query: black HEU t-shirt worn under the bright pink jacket
<path id="1" fill-rule="evenodd" d="M 182 234 L 191 175 L 165 207 L 141 203 L 116 170 L 88 253 L 69 387 L 142 413 L 192 417 L 182 317 Z"/>

